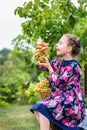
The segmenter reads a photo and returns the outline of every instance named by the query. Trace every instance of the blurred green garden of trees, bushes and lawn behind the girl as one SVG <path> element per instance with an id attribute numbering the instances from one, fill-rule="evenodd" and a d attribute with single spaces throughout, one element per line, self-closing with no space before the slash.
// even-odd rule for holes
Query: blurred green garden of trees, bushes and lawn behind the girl
<path id="1" fill-rule="evenodd" d="M 71 0 L 32 0 L 17 7 L 14 15 L 25 21 L 21 23 L 22 33 L 12 39 L 13 50 L 0 50 L 0 130 L 37 130 L 39 126 L 29 108 L 41 100 L 35 85 L 48 75 L 36 65 L 37 39 L 42 37 L 49 43 L 50 60 L 57 57 L 55 45 L 63 34 L 73 33 L 80 38 L 82 51 L 77 60 L 84 90 L 87 0 L 78 0 L 78 6 Z"/>

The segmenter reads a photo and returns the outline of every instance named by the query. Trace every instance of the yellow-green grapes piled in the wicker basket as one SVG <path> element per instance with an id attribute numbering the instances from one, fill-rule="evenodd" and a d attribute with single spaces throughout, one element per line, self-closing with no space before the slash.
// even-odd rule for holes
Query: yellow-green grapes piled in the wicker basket
<path id="1" fill-rule="evenodd" d="M 39 83 L 36 84 L 35 90 L 37 92 L 48 92 L 48 91 L 50 91 L 49 81 L 47 79 L 40 81 Z"/>

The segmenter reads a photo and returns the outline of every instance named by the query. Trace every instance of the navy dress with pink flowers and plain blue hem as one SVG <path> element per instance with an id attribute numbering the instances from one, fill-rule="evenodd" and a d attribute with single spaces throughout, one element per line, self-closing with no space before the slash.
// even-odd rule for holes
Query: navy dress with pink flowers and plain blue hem
<path id="1" fill-rule="evenodd" d="M 85 117 L 80 66 L 76 60 L 63 60 L 58 75 L 59 59 L 51 60 L 50 64 L 54 70 L 48 77 L 49 83 L 54 86 L 52 96 L 35 104 L 30 110 L 39 111 L 64 130 L 77 130 Z"/>

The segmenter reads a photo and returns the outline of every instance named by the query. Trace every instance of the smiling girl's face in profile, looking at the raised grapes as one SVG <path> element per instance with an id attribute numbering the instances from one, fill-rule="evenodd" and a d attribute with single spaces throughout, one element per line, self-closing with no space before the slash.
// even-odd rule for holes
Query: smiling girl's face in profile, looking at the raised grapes
<path id="1" fill-rule="evenodd" d="M 63 36 L 57 43 L 57 55 L 65 56 L 69 52 L 71 52 L 71 50 L 70 46 L 68 45 L 68 38 Z"/>

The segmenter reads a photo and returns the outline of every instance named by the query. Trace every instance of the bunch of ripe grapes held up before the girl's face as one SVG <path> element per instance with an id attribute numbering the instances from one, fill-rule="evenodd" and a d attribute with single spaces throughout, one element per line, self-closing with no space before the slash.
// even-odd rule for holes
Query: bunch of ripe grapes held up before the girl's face
<path id="1" fill-rule="evenodd" d="M 38 61 L 44 63 L 46 61 L 45 58 L 46 57 L 49 58 L 48 49 L 49 49 L 48 43 L 42 42 L 42 39 L 39 38 L 37 41 L 35 58 Z"/>

